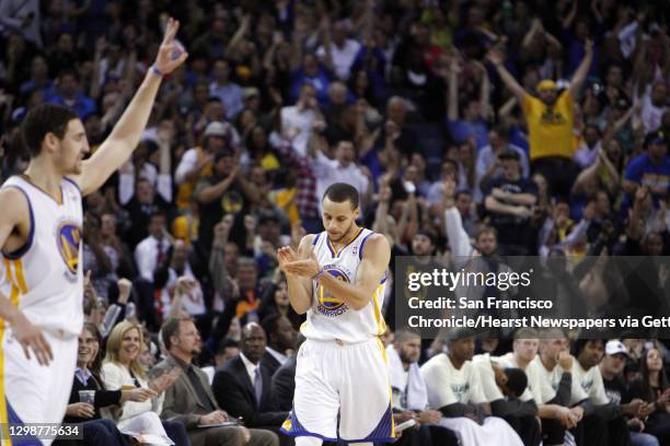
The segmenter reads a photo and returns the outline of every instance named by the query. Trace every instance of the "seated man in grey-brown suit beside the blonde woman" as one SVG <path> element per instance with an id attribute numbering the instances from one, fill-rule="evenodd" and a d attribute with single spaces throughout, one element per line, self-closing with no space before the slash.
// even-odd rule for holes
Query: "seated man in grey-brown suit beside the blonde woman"
<path id="1" fill-rule="evenodd" d="M 244 426 L 216 426 L 229 421 L 219 409 L 207 375 L 193 365 L 200 353 L 200 334 L 193 319 L 170 318 L 161 328 L 161 337 L 168 357 L 157 364 L 153 373 L 160 374 L 174 367 L 182 368 L 177 380 L 165 390 L 161 418 L 181 421 L 193 446 L 278 446 L 279 438 L 269 431 Z M 212 425 L 212 427 L 198 427 Z"/>

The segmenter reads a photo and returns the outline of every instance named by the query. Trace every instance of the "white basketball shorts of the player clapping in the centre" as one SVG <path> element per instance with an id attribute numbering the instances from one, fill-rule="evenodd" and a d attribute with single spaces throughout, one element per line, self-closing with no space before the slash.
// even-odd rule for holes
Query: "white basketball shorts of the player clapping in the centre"
<path id="1" fill-rule="evenodd" d="M 293 409 L 281 432 L 331 442 L 393 441 L 388 362 L 378 338 L 353 344 L 308 339 L 298 351 Z"/>

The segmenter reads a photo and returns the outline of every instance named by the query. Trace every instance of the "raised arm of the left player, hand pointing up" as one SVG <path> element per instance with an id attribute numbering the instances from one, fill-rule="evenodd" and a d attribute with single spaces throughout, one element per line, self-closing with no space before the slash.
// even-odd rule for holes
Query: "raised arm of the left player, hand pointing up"
<path id="1" fill-rule="evenodd" d="M 100 149 L 84 162 L 81 175 L 73 178 L 83 195 L 100 188 L 128 160 L 147 127 L 162 77 L 172 72 L 188 57 L 174 38 L 178 27 L 180 22 L 170 19 L 155 61 L 145 75 L 132 101 Z"/>

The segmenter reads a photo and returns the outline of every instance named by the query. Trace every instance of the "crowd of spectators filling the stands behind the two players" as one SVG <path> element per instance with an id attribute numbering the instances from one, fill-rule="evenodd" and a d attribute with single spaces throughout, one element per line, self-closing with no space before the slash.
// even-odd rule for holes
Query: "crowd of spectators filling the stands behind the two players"
<path id="1" fill-rule="evenodd" d="M 529 255 L 566 258 L 568 270 L 596 257 L 564 290 L 584 295 L 591 315 L 608 313 L 620 289 L 627 292 L 616 298 L 640 312 L 670 314 L 667 302 L 635 287 L 662 294 L 670 286 L 662 261 L 646 257 L 646 275 L 627 286 L 604 266 L 614 256 L 670 251 L 669 11 L 661 0 L 0 0 L 1 179 L 26 166 L 20 125 L 31 108 L 73 108 L 94 152 L 169 16 L 181 21 L 189 54 L 164 79 L 131 160 L 85 199 L 91 324 L 74 388 L 106 394 L 96 394 L 93 410 L 73 390 L 68 416 L 115 420 L 97 425 L 103 444 L 122 442 L 114 426 L 129 431 L 138 413 L 160 418 L 145 416 L 137 429 L 177 443 L 213 444 L 197 426 L 241 416 L 250 430 L 211 435 L 227 445 L 277 444 L 268 432 L 290 410 L 304 316 L 289 306 L 276 249 L 322 230 L 320 197 L 336 181 L 358 189 L 360 224 L 383 233 L 393 257 L 451 265 Z M 392 350 L 394 298 L 390 284 Z M 398 364 L 426 363 L 409 376 L 424 377 L 427 396 L 423 407 L 398 399 L 397 421 L 466 415 L 499 432 L 467 404 L 518 400 L 518 374 L 490 367 L 505 375 L 486 384 L 493 397 L 447 396 L 441 379 L 476 386 L 490 371 L 473 360 L 475 345 L 495 357 L 525 345 L 516 359 L 490 361 L 516 369 L 541 361 L 555 385 L 553 395 L 535 395 L 541 378 L 527 369 L 532 398 L 519 412 L 503 409 L 524 444 L 670 445 L 670 355 L 658 337 L 625 340 L 624 349 L 528 332 L 513 345 L 450 337 L 417 353 L 415 337 L 398 332 Z M 575 357 L 558 364 L 569 342 Z M 625 374 L 617 355 L 627 359 Z M 561 371 L 570 369 L 575 383 L 601 376 L 607 396 L 587 378 L 581 400 L 569 386 L 557 392 Z M 497 396 L 503 382 L 516 390 L 501 385 Z M 614 409 L 596 416 L 608 404 Z M 517 421 L 539 415 L 542 430 L 510 421 L 512 412 Z M 446 427 L 488 444 L 463 424 Z M 453 439 L 407 432 L 407 444 Z M 615 439 L 589 437 L 594 432 Z"/>

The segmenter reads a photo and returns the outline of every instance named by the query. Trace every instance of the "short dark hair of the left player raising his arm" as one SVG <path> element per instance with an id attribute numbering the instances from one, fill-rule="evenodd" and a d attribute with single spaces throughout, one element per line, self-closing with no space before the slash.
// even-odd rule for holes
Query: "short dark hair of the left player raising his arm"
<path id="1" fill-rule="evenodd" d="M 47 133 L 63 139 L 68 131 L 68 124 L 79 119 L 77 113 L 68 107 L 56 104 L 41 104 L 28 111 L 21 125 L 23 144 L 30 156 L 36 157 L 42 152 L 42 142 Z"/>

